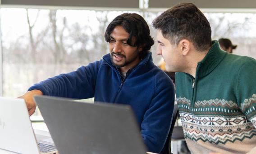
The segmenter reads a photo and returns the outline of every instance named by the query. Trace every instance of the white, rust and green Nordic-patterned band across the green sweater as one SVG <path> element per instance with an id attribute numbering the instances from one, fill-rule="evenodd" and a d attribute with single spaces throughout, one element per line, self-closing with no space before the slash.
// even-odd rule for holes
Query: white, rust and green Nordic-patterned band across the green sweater
<path id="1" fill-rule="evenodd" d="M 177 103 L 185 138 L 217 145 L 256 136 L 256 129 L 252 125 L 256 117 L 248 121 L 232 101 L 216 98 L 197 101 L 195 107 L 190 107 L 189 100 L 178 97 Z M 255 110 L 254 106 L 252 108 Z M 219 112 L 226 116 L 220 115 Z"/>

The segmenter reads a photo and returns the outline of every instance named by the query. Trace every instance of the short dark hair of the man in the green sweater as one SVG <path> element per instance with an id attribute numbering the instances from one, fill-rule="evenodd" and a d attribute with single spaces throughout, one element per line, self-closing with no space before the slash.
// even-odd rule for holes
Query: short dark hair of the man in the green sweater
<path id="1" fill-rule="evenodd" d="M 152 26 L 176 46 L 180 40 L 187 39 L 197 51 L 205 51 L 211 47 L 210 23 L 192 3 L 174 5 L 155 18 Z"/>

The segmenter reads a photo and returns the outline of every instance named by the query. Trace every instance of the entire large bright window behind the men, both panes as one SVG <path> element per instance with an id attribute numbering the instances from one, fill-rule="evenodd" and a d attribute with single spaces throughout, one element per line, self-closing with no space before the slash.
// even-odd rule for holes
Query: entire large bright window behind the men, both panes
<path id="1" fill-rule="evenodd" d="M 33 84 L 76 70 L 109 53 L 104 32 L 117 15 L 128 11 L 1 8 L 3 96 L 18 97 Z M 149 26 L 160 12 L 136 12 Z M 256 58 L 255 13 L 205 13 L 213 40 L 229 38 L 235 54 Z M 155 30 L 151 27 L 151 35 Z M 151 51 L 157 65 L 160 56 Z M 39 115 L 38 112 L 35 115 Z"/>

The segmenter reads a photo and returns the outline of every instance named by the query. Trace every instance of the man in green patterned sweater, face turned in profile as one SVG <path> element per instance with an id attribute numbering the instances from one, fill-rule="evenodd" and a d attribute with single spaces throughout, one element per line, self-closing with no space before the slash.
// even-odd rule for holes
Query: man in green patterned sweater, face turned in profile
<path id="1" fill-rule="evenodd" d="M 158 54 L 175 75 L 176 97 L 193 154 L 256 154 L 256 60 L 211 41 L 210 24 L 192 3 L 153 21 Z"/>

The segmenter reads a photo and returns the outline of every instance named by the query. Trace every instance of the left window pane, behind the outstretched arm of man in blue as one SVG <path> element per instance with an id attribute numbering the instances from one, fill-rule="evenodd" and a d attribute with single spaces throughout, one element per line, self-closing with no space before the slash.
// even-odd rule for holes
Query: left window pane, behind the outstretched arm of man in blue
<path id="1" fill-rule="evenodd" d="M 10 8 L 0 11 L 5 97 L 21 96 L 41 80 L 101 59 L 109 53 L 103 37 L 105 28 L 123 13 Z M 37 115 L 38 110 L 34 116 Z"/>

